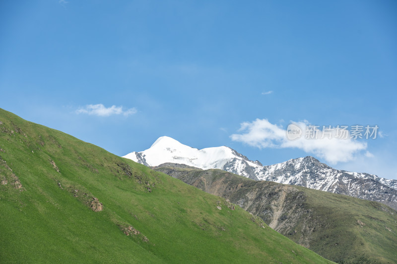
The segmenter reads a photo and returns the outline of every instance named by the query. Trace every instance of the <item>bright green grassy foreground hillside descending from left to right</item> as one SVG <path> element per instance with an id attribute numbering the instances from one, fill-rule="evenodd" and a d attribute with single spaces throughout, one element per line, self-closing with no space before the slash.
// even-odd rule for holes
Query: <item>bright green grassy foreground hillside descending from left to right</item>
<path id="1" fill-rule="evenodd" d="M 0 263 L 330 263 L 178 179 L 0 121 Z"/>

